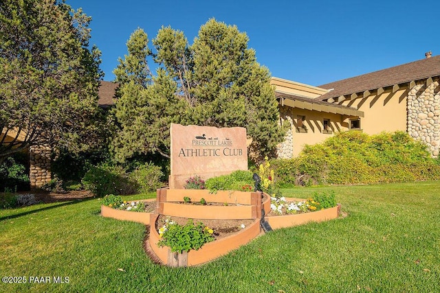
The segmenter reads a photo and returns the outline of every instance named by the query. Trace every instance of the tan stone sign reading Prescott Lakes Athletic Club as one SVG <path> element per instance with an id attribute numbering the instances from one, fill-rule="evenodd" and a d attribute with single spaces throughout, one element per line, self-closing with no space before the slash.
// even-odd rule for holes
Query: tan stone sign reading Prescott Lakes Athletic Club
<path id="1" fill-rule="evenodd" d="M 170 188 L 191 176 L 203 179 L 248 169 L 246 128 L 171 124 Z"/>

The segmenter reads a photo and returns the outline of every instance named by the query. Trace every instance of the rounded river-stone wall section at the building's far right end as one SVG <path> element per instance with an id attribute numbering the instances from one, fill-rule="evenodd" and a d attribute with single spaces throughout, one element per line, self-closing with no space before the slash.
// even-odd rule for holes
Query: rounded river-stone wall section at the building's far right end
<path id="1" fill-rule="evenodd" d="M 439 78 L 426 86 L 417 82 L 408 93 L 408 134 L 428 145 L 432 156 L 439 156 L 440 93 Z"/>

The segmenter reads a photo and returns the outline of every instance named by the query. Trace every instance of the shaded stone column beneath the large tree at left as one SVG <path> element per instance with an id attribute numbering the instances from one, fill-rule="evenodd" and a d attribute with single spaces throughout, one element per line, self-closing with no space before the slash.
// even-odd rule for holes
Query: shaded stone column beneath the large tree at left
<path id="1" fill-rule="evenodd" d="M 45 183 L 49 183 L 52 174 L 50 172 L 50 148 L 34 145 L 30 148 L 30 188 L 39 189 Z"/>

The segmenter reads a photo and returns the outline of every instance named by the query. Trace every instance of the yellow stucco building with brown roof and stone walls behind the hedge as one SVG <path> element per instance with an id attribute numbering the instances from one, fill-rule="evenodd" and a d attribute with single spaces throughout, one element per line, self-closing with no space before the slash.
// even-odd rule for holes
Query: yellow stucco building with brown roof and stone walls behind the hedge
<path id="1" fill-rule="evenodd" d="M 337 132 L 406 131 L 426 143 L 432 156 L 440 145 L 440 56 L 366 73 L 322 86 L 272 78 L 281 124 L 289 128 L 278 157 L 297 156 L 304 145 Z"/>

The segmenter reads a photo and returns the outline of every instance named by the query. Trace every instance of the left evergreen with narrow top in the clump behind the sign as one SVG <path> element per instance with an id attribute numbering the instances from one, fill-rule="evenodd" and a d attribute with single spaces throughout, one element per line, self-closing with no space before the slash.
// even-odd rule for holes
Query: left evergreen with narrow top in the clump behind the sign
<path id="1" fill-rule="evenodd" d="M 151 52 L 142 29 L 131 34 L 127 48 L 128 54 L 119 58 L 113 71 L 120 83 L 118 102 L 112 112 L 117 129 L 111 143 L 115 159 L 124 162 L 137 154 L 156 152 L 169 157 L 169 126 L 179 122 L 184 103 L 175 95 L 175 82 L 164 71 L 157 71 L 151 80 L 146 60 Z"/>

